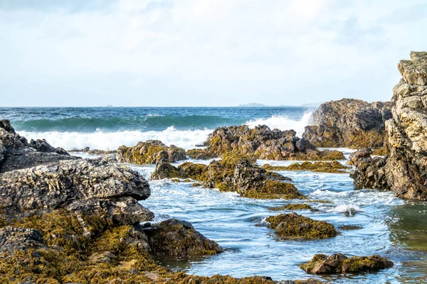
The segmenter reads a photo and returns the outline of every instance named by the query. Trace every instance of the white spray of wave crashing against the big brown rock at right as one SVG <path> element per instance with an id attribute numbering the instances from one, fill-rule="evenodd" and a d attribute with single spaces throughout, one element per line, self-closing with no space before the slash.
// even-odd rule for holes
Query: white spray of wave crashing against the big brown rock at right
<path id="1" fill-rule="evenodd" d="M 245 124 L 251 128 L 255 128 L 255 126 L 265 124 L 266 126 L 270 127 L 270 129 L 293 129 L 297 132 L 297 136 L 301 137 L 302 133 L 304 133 L 305 126 L 310 124 L 311 115 L 311 112 L 307 112 L 306 114 L 304 114 L 304 116 L 302 116 L 302 119 L 299 121 L 288 119 L 287 116 L 271 116 L 268 119 L 254 119 L 246 121 Z"/>

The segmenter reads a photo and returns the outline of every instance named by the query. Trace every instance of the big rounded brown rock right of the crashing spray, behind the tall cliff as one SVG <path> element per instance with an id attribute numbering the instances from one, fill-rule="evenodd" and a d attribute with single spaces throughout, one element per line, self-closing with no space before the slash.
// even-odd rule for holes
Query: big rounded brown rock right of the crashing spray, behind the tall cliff
<path id="1" fill-rule="evenodd" d="M 305 127 L 302 138 L 317 147 L 382 148 L 391 105 L 359 99 L 326 102 L 312 114 L 314 125 Z"/>

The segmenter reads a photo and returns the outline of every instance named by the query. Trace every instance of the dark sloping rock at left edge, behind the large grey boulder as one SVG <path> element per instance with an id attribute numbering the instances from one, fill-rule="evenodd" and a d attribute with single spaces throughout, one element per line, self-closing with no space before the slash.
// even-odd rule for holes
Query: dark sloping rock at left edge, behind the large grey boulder
<path id="1" fill-rule="evenodd" d="M 31 168 L 35 165 L 75 160 L 63 148 L 54 148 L 44 139 L 31 140 L 15 132 L 9 120 L 0 121 L 0 173 Z"/>

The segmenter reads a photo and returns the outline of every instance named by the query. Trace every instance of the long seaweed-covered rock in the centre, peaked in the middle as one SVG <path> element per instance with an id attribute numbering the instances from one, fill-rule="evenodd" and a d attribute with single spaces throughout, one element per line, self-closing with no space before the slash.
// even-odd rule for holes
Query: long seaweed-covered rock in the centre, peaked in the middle
<path id="1" fill-rule="evenodd" d="M 227 154 L 221 161 L 209 165 L 185 162 L 174 167 L 161 161 L 157 163 L 152 180 L 162 178 L 192 179 L 203 182 L 204 187 L 237 192 L 242 197 L 275 199 L 305 198 L 289 180 L 278 173 L 267 173 L 254 164 L 250 157 Z"/>

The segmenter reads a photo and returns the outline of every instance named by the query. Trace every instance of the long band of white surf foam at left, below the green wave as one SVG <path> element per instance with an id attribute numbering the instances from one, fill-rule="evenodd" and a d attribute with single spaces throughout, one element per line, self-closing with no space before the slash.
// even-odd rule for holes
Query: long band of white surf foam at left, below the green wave
<path id="1" fill-rule="evenodd" d="M 78 132 L 31 132 L 19 131 L 21 136 L 29 139 L 45 138 L 48 143 L 55 147 L 62 147 L 67 150 L 82 149 L 90 147 L 99 150 L 115 150 L 122 145 L 135 146 L 139 141 L 157 139 L 167 145 L 175 145 L 181 148 L 194 148 L 194 146 L 206 141 L 211 129 L 204 130 L 176 130 L 173 126 L 164 131 L 117 131 L 104 132 L 95 131 L 93 133 Z"/>

